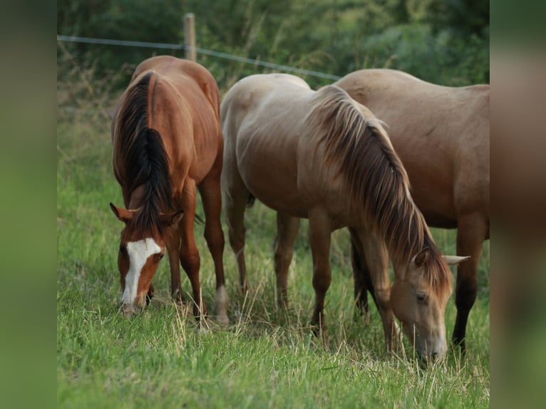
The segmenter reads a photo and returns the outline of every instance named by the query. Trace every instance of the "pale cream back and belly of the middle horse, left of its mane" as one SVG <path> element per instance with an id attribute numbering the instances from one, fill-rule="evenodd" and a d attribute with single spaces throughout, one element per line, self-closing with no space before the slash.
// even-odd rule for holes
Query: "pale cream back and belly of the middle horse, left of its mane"
<path id="1" fill-rule="evenodd" d="M 249 76 L 223 98 L 224 187 L 229 190 L 230 180 L 240 178 L 277 211 L 308 217 L 320 207 L 345 221 L 353 217 L 348 202 L 339 200 L 348 195 L 346 183 L 338 167 L 325 165 L 323 118 L 311 115 L 321 110 L 322 93 L 291 77 Z"/>

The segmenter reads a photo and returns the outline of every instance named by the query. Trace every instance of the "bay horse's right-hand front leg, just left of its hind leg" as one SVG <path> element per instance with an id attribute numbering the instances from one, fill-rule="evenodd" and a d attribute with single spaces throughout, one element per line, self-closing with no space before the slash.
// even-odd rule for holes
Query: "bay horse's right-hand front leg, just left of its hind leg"
<path id="1" fill-rule="evenodd" d="M 185 207 L 184 215 L 180 220 L 180 263 L 186 271 L 187 278 L 190 279 L 193 294 L 193 314 L 200 318 L 207 314 L 207 306 L 202 301 L 201 286 L 199 281 L 199 269 L 201 259 L 199 250 L 195 244 L 194 236 L 194 218 L 195 218 L 195 182 L 187 180 L 184 187 L 185 191 Z"/>

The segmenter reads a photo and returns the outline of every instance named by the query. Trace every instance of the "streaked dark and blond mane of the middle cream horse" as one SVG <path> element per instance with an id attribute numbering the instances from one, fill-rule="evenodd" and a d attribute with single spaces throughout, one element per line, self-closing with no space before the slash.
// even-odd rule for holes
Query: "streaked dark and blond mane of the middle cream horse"
<path id="1" fill-rule="evenodd" d="M 325 161 L 337 166 L 349 187 L 352 207 L 386 241 L 394 259 L 409 260 L 428 247 L 428 276 L 436 294 L 451 291 L 451 274 L 434 244 L 423 214 L 411 198 L 408 175 L 377 118 L 366 119 L 355 101 L 337 86 L 316 92 L 307 121 L 320 135 Z"/>

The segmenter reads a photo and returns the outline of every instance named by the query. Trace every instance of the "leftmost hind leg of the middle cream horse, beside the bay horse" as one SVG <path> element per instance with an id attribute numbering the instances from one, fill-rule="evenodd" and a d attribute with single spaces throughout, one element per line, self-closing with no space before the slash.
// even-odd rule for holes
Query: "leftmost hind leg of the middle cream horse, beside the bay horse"
<path id="1" fill-rule="evenodd" d="M 225 202 L 227 234 L 230 246 L 237 260 L 239 271 L 239 291 L 247 294 L 247 266 L 244 262 L 244 210 L 247 207 L 250 192 L 244 186 L 238 170 L 230 170 L 229 163 L 222 170 L 222 194 Z"/>

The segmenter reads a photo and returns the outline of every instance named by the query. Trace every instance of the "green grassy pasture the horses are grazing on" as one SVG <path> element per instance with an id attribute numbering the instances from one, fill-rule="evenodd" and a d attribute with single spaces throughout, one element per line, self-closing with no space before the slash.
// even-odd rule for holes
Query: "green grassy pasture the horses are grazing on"
<path id="1" fill-rule="evenodd" d="M 275 303 L 275 217 L 257 203 L 246 214 L 251 291 L 240 296 L 226 243 L 230 326 L 198 331 L 170 301 L 168 262 L 154 278 L 156 296 L 133 319 L 118 314 L 117 250 L 123 205 L 110 165 L 110 123 L 102 111 L 59 111 L 57 124 L 58 408 L 488 408 L 490 403 L 489 243 L 480 261 L 478 300 L 470 312 L 468 352 L 421 368 L 405 341 L 384 351 L 375 306 L 369 322 L 354 309 L 349 235 L 334 232 L 326 342 L 308 326 L 314 291 L 307 223 L 289 272 L 288 311 Z M 202 215 L 202 209 L 198 210 Z M 214 269 L 196 227 L 203 297 L 214 313 Z M 227 238 L 227 229 L 224 229 Z M 455 254 L 455 232 L 433 229 Z M 226 239 L 227 242 L 227 239 Z M 182 286 L 190 284 L 182 276 Z M 186 294 L 186 299 L 189 295 Z M 453 330 L 455 306 L 446 326 Z"/>

